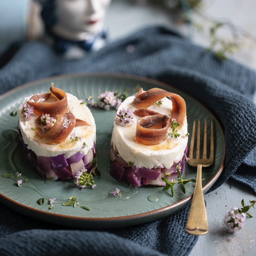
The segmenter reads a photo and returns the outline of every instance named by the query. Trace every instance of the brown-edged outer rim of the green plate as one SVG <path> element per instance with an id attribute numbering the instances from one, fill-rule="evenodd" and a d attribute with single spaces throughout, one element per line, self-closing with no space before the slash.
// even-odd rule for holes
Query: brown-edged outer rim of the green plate
<path id="1" fill-rule="evenodd" d="M 52 79 L 65 79 L 65 78 L 75 78 L 75 77 L 91 77 L 91 76 L 95 76 L 95 77 L 100 77 L 100 76 L 105 76 L 105 77 L 115 77 L 115 78 L 129 78 L 129 79 L 136 79 L 136 80 L 140 80 L 140 81 L 144 81 L 144 82 L 151 82 L 154 84 L 159 84 L 161 86 L 164 87 L 171 87 L 174 88 L 175 90 L 178 90 L 180 92 L 182 92 L 183 94 L 186 94 L 188 97 L 192 98 L 193 100 L 197 101 L 198 103 L 200 103 L 204 108 L 207 109 L 207 111 L 209 111 L 213 117 L 215 118 L 215 120 L 217 121 L 218 125 L 221 128 L 221 132 L 223 134 L 223 137 L 225 138 L 225 133 L 224 133 L 224 129 L 223 126 L 221 124 L 221 122 L 219 121 L 219 119 L 216 117 L 216 115 L 207 107 L 205 106 L 203 103 L 201 103 L 200 101 L 198 101 L 197 99 L 195 99 L 194 97 L 192 97 L 191 95 L 187 94 L 186 92 L 180 90 L 179 88 L 176 88 L 172 85 L 169 85 L 167 83 L 161 82 L 159 80 L 153 79 L 153 78 L 148 78 L 148 77 L 142 77 L 142 76 L 137 76 L 137 75 L 130 75 L 130 74 L 126 74 L 126 73 L 105 73 L 105 72 L 91 72 L 91 73 L 72 73 L 72 74 L 64 74 L 64 75 L 56 75 L 56 76 L 51 76 L 51 77 L 44 77 L 44 78 L 40 78 L 37 80 L 33 80 L 30 82 L 27 82 L 25 84 L 19 85 L 5 93 L 3 93 L 2 95 L 0 95 L 0 100 L 2 100 L 3 98 L 19 91 L 19 90 L 23 90 L 25 88 L 28 88 L 30 86 L 33 86 L 37 83 L 43 83 L 43 82 L 47 82 L 47 81 L 51 81 Z M 1 129 L 2 130 L 2 129 Z M 217 181 L 217 179 L 220 177 L 223 168 L 224 168 L 224 163 L 225 163 L 225 158 L 226 158 L 226 143 L 224 140 L 224 158 L 222 161 L 222 164 L 219 168 L 219 170 L 216 172 L 216 174 L 212 177 L 212 179 L 210 179 L 204 186 L 203 186 L 203 193 L 206 193 L 212 186 L 213 184 Z M 56 217 L 56 218 L 60 218 L 60 219 L 64 219 L 64 220 L 77 220 L 77 221 L 90 221 L 90 222 L 122 222 L 122 221 L 126 221 L 126 220 L 140 220 L 145 218 L 146 216 L 154 216 L 154 215 L 158 215 L 158 213 L 168 213 L 170 210 L 172 210 L 173 208 L 176 208 L 182 205 L 187 205 L 189 203 L 189 201 L 192 199 L 192 195 L 174 203 L 168 206 L 165 206 L 163 208 L 160 209 L 156 209 L 153 211 L 149 211 L 146 213 L 140 213 L 140 214 L 135 214 L 135 215 L 129 215 L 129 216 L 119 216 L 119 217 L 101 217 L 101 218 L 91 218 L 91 217 L 79 217 L 79 216 L 70 216 L 70 215 L 65 215 L 65 214 L 58 214 L 58 213 L 52 213 L 52 212 L 48 212 L 48 211 L 41 211 L 39 209 L 35 209 L 35 208 L 31 208 L 29 206 L 26 206 L 24 204 L 21 204 L 19 202 L 16 202 L 14 200 L 12 200 L 11 198 L 3 195 L 2 193 L 0 193 L 0 201 L 1 203 L 5 204 L 3 201 L 8 202 L 8 207 L 12 208 L 9 204 L 14 204 L 17 207 L 24 209 L 25 211 L 33 211 L 36 213 L 39 213 L 40 215 L 43 215 L 45 217 Z M 6 204 L 5 204 L 6 205 Z M 15 210 L 15 209 L 14 209 Z M 170 214 L 166 214 L 166 215 L 170 215 Z M 31 216 L 29 216 L 31 217 Z M 36 217 L 34 217 L 36 218 Z M 148 222 L 147 220 L 145 222 Z M 131 224 L 133 225 L 133 224 Z M 125 226 L 130 226 L 130 225 L 125 225 Z"/>

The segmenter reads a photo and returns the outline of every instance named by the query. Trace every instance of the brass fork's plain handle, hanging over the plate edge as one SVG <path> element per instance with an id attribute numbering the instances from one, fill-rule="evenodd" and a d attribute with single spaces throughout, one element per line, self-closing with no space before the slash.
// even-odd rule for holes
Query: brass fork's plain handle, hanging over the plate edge
<path id="1" fill-rule="evenodd" d="M 187 219 L 186 231 L 192 235 L 203 235 L 208 232 L 202 188 L 202 165 L 197 165 L 195 191 Z"/>

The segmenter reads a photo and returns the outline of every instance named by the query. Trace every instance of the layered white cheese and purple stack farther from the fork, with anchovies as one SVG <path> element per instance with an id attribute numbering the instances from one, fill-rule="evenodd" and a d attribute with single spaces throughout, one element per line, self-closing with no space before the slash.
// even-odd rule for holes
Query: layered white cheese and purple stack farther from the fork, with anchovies
<path id="1" fill-rule="evenodd" d="M 94 118 L 82 100 L 52 83 L 49 93 L 25 98 L 19 108 L 23 151 L 42 178 L 70 179 L 95 157 Z"/>

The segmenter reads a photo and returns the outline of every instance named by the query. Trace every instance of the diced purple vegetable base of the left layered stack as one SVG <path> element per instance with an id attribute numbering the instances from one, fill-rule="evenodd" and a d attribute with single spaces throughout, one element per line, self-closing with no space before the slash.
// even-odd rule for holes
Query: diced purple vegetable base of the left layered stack
<path id="1" fill-rule="evenodd" d="M 72 179 L 76 176 L 77 171 L 81 171 L 83 167 L 85 167 L 89 173 L 93 168 L 89 163 L 91 163 L 96 156 L 95 142 L 87 155 L 84 156 L 81 152 L 77 152 L 68 159 L 66 159 L 65 154 L 56 157 L 37 156 L 31 149 L 27 148 L 23 140 L 22 148 L 25 157 L 34 167 L 35 172 L 41 178 L 46 176 L 54 180 L 58 178 L 63 180 Z"/>

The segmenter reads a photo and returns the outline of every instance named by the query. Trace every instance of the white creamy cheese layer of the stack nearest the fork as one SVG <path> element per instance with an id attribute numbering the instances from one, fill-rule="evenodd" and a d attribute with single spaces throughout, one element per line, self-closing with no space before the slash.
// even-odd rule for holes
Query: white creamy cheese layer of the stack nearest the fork
<path id="1" fill-rule="evenodd" d="M 135 96 L 128 97 L 119 107 L 117 113 L 123 107 L 136 110 L 136 104 L 133 102 Z M 148 107 L 160 114 L 169 114 L 172 110 L 172 101 L 168 98 L 162 99 L 162 105 L 152 105 Z M 116 118 L 116 117 L 115 117 Z M 136 122 L 140 117 L 135 116 L 135 124 L 128 127 L 117 125 L 114 121 L 111 144 L 116 147 L 119 155 L 126 161 L 132 162 L 135 166 L 146 167 L 149 169 L 162 166 L 169 169 L 174 163 L 182 159 L 185 148 L 187 146 L 187 120 L 185 118 L 184 125 L 178 129 L 180 136 L 176 139 L 168 140 L 167 138 L 157 145 L 143 145 L 135 141 Z M 168 133 L 172 132 L 169 128 Z"/>

